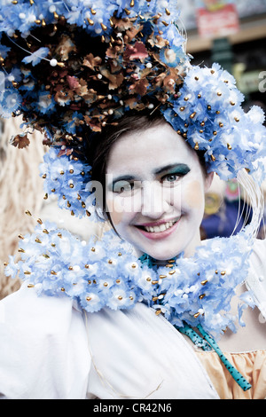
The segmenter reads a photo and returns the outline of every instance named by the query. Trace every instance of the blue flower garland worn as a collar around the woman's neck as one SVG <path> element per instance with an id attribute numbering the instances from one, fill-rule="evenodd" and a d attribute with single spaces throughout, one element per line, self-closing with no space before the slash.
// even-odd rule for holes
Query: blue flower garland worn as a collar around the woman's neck
<path id="1" fill-rule="evenodd" d="M 238 321 L 244 326 L 243 306 L 254 306 L 246 292 L 239 297 L 239 318 L 231 316 L 231 299 L 246 279 L 252 250 L 245 230 L 208 240 L 192 258 L 178 256 L 160 267 L 149 256 L 138 259 L 113 231 L 87 243 L 39 219 L 35 232 L 20 238 L 21 260 L 16 264 L 10 256 L 5 274 L 19 274 L 39 295 L 76 299 L 85 311 L 144 302 L 176 327 L 201 325 L 217 337 L 226 327 L 236 332 Z"/>

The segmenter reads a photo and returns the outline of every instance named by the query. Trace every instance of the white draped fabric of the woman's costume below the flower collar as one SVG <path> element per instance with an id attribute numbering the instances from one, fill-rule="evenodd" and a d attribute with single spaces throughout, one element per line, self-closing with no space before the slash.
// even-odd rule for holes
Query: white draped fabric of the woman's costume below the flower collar
<path id="1" fill-rule="evenodd" d="M 265 240 L 246 285 L 265 315 Z M 85 313 L 23 284 L 1 302 L 0 393 L 6 398 L 219 398 L 184 336 L 143 303 Z"/>

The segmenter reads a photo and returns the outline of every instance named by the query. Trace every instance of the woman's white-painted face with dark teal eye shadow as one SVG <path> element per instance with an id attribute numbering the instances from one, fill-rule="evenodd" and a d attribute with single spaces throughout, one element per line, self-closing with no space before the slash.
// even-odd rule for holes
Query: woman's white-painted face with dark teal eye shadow
<path id="1" fill-rule="evenodd" d="M 137 255 L 192 256 L 210 184 L 195 151 L 161 122 L 114 143 L 106 168 L 106 209 Z"/>

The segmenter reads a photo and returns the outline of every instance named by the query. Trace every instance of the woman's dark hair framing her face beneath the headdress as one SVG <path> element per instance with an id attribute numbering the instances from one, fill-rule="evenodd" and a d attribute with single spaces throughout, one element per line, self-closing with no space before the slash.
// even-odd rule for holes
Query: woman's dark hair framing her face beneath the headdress
<path id="1" fill-rule="evenodd" d="M 109 220 L 112 226 L 113 223 L 110 213 L 106 211 L 106 167 L 113 144 L 126 133 L 147 130 L 165 122 L 166 120 L 160 111 L 154 111 L 152 114 L 145 113 L 144 111 L 141 111 L 141 114 L 140 112 L 137 112 L 137 114 L 131 113 L 123 116 L 119 122 L 109 125 L 102 133 L 95 135 L 95 137 L 90 140 L 87 159 L 92 168 L 91 179 L 92 181 L 98 181 L 103 185 L 103 207 L 101 209 L 103 215 Z M 199 151 L 195 152 L 197 152 L 199 157 L 203 173 L 207 175 L 204 153 Z"/>

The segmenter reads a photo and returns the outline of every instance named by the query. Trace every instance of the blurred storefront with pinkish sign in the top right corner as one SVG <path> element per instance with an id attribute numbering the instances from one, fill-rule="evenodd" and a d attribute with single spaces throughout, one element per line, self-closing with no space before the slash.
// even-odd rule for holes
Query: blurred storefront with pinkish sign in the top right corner
<path id="1" fill-rule="evenodd" d="M 187 0 L 180 8 L 193 64 L 219 62 L 235 76 L 246 107 L 266 108 L 266 0 Z"/>

